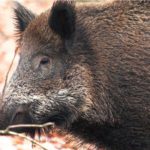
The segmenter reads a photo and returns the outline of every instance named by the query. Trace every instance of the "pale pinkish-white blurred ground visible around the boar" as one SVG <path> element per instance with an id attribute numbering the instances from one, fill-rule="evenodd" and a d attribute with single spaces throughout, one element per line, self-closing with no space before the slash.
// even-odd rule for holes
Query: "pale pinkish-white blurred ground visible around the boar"
<path id="1" fill-rule="evenodd" d="M 54 0 L 17 0 L 36 14 L 50 8 Z M 87 0 L 77 0 L 86 2 Z M 93 0 L 88 0 L 93 2 Z M 108 1 L 108 0 L 94 0 Z M 15 27 L 12 0 L 0 0 L 0 93 L 2 92 L 8 68 L 12 62 L 15 52 Z M 38 10 L 38 11 L 37 11 Z M 17 55 L 13 63 L 12 71 L 16 68 L 19 56 Z M 72 144 L 66 143 L 61 135 L 53 133 L 51 137 L 41 137 L 41 144 L 49 150 L 76 150 Z M 32 143 L 18 137 L 0 136 L 0 150 L 31 150 Z M 39 150 L 39 147 L 35 147 Z M 81 150 L 93 150 L 93 148 L 83 147 Z"/>

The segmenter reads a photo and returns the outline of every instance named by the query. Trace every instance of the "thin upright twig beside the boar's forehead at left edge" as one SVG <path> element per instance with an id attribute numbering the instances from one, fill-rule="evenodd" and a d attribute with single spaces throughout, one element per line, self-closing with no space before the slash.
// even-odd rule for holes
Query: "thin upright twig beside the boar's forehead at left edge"
<path id="1" fill-rule="evenodd" d="M 2 100 L 3 100 L 4 94 L 5 94 L 5 89 L 6 89 L 6 85 L 7 85 L 7 81 L 8 81 L 9 72 L 10 72 L 10 70 L 12 68 L 13 63 L 14 63 L 14 60 L 15 60 L 15 57 L 16 57 L 18 49 L 19 49 L 18 47 L 15 49 L 15 53 L 14 53 L 12 62 L 11 62 L 10 66 L 9 66 L 9 69 L 8 69 L 8 71 L 6 73 L 5 83 L 4 83 L 4 87 L 3 87 L 3 91 L 2 91 L 2 95 L 1 95 L 2 96 Z"/>

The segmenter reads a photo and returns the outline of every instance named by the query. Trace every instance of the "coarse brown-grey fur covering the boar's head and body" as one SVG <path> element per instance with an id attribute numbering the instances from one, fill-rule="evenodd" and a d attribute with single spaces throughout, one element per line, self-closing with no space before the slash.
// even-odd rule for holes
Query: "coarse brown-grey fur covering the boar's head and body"
<path id="1" fill-rule="evenodd" d="M 62 26 L 48 10 L 21 28 L 21 58 L 5 94 L 1 128 L 54 121 L 97 147 L 149 150 L 150 1 L 75 10 L 57 3 L 66 3 Z M 11 116 L 16 109 L 24 119 L 18 111 Z"/>

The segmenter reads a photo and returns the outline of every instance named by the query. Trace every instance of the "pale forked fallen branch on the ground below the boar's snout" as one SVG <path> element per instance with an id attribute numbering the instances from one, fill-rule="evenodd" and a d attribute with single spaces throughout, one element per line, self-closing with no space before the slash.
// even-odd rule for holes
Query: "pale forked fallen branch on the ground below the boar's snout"
<path id="1" fill-rule="evenodd" d="M 43 150 L 48 150 L 47 148 L 45 148 L 44 146 L 42 146 L 36 140 L 34 140 L 34 139 L 32 139 L 32 138 L 24 135 L 24 134 L 16 133 L 16 132 L 13 132 L 13 131 L 10 131 L 10 130 L 11 129 L 15 129 L 15 128 L 46 128 L 46 127 L 49 127 L 49 126 L 51 128 L 54 128 L 54 123 L 48 122 L 48 123 L 45 123 L 45 124 L 18 124 L 18 125 L 11 125 L 11 126 L 8 126 L 5 130 L 0 130 L 0 134 L 3 134 L 3 135 L 4 134 L 9 134 L 9 135 L 18 136 L 18 137 L 24 138 L 24 139 L 32 142 L 35 145 L 38 145 Z"/>

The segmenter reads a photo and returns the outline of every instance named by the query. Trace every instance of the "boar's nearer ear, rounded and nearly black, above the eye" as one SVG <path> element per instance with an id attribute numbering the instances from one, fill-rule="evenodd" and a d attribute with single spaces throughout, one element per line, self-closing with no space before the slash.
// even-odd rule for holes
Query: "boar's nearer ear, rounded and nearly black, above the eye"
<path id="1" fill-rule="evenodd" d="M 75 5 L 74 1 L 57 0 L 51 9 L 49 26 L 62 39 L 69 39 L 75 31 Z"/>

